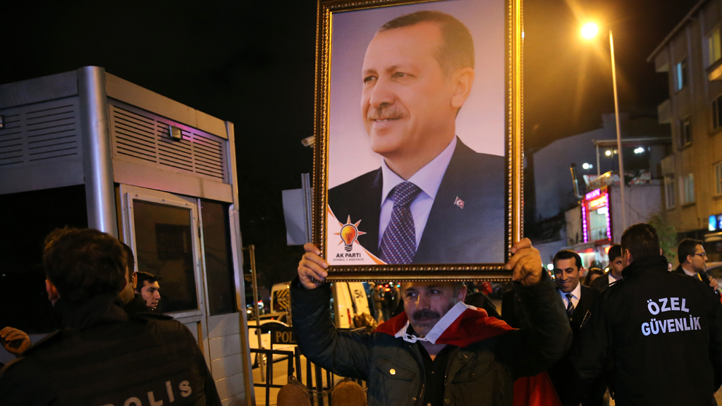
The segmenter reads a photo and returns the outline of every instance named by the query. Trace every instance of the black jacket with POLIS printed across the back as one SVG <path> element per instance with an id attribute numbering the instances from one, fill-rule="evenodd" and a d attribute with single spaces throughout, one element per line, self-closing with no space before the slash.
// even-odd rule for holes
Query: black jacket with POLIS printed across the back
<path id="1" fill-rule="evenodd" d="M 0 371 L 0 405 L 220 405 L 198 343 L 175 320 L 129 319 L 116 298 L 62 299 L 64 328 Z M 131 401 L 132 404 L 132 401 Z"/>

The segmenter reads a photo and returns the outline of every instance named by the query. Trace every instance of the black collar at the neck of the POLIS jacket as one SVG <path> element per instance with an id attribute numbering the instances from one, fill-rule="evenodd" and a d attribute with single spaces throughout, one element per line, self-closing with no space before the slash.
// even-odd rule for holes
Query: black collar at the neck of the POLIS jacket
<path id="1" fill-rule="evenodd" d="M 85 303 L 71 303 L 63 298 L 53 308 L 61 316 L 61 328 L 78 331 L 128 320 L 116 295 L 97 295 Z"/>

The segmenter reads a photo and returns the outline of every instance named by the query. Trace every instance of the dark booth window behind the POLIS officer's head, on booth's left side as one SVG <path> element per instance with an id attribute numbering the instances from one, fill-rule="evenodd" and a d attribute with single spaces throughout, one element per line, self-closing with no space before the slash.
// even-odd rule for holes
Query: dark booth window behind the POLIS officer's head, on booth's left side
<path id="1" fill-rule="evenodd" d="M 0 198 L 0 329 L 57 329 L 45 292 L 43 246 L 56 228 L 87 228 L 85 186 L 4 194 Z"/>

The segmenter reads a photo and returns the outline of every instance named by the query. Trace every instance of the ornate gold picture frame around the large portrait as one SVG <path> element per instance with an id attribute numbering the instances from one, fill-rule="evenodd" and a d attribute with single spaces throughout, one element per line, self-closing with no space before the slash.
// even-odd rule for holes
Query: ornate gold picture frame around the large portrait
<path id="1" fill-rule="evenodd" d="M 328 259 L 329 136 L 331 122 L 332 23 L 336 13 L 381 7 L 477 0 L 319 0 L 316 26 L 316 105 L 313 160 L 313 242 Z M 441 264 L 331 264 L 329 281 L 508 280 L 513 241 L 523 235 L 523 16 L 521 0 L 505 0 L 504 13 L 504 188 L 503 262 Z M 458 199 L 458 197 L 457 197 Z M 455 203 L 456 204 L 456 203 Z M 461 202 L 461 209 L 464 207 Z M 345 220 L 345 219 L 344 219 Z M 349 219 L 350 220 L 350 219 Z M 355 220 L 354 220 L 355 221 Z M 340 224 L 340 222 L 339 222 Z M 378 237 L 380 238 L 380 236 Z M 380 240 L 379 240 L 380 241 Z"/>

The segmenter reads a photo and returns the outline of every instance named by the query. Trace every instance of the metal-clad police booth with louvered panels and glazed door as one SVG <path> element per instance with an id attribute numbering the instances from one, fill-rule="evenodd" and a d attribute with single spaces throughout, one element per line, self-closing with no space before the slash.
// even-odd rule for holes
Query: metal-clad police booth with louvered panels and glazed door
<path id="1" fill-rule="evenodd" d="M 223 405 L 253 404 L 231 122 L 95 66 L 1 85 L 0 212 L 0 329 L 53 331 L 43 240 L 97 228 L 162 278 Z"/>

